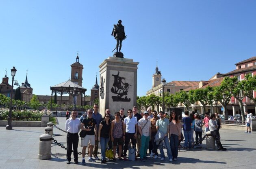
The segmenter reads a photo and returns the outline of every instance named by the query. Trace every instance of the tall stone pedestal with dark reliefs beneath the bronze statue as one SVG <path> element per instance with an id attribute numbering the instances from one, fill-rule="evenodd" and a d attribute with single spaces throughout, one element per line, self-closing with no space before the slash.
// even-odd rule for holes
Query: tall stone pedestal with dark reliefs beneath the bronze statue
<path id="1" fill-rule="evenodd" d="M 136 106 L 137 97 L 137 65 L 133 59 L 108 57 L 99 66 L 100 68 L 100 95 L 99 112 L 104 115 L 106 109 L 111 114 L 124 108 Z"/>

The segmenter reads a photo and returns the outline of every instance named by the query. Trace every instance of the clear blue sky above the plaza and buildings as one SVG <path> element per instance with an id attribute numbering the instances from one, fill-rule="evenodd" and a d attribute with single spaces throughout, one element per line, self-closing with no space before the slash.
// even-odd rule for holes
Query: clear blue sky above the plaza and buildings
<path id="1" fill-rule="evenodd" d="M 0 77 L 15 66 L 21 84 L 28 70 L 33 93 L 50 95 L 71 76 L 79 51 L 89 95 L 122 19 L 122 52 L 139 62 L 137 95 L 151 89 L 156 59 L 167 82 L 208 80 L 256 56 L 255 8 L 253 0 L 1 1 Z"/>

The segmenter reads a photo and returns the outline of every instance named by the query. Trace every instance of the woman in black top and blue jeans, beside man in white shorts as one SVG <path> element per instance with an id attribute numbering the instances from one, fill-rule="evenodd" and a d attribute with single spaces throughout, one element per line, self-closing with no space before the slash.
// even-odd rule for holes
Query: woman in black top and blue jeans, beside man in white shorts
<path id="1" fill-rule="evenodd" d="M 104 120 L 100 122 L 99 134 L 98 134 L 99 135 L 98 140 L 101 146 L 101 162 L 100 163 L 106 162 L 105 152 L 106 152 L 106 147 L 109 140 L 110 128 L 111 128 L 110 115 L 105 114 Z"/>

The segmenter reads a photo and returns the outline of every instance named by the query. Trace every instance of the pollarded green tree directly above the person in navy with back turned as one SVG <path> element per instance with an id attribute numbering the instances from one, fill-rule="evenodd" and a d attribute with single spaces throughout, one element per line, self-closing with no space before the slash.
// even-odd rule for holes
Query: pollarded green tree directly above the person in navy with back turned
<path id="1" fill-rule="evenodd" d="M 189 111 L 189 106 L 191 106 L 191 104 L 195 103 L 195 99 L 193 98 L 193 93 L 194 93 L 193 90 L 190 90 L 189 92 L 180 91 L 180 92 L 176 93 L 178 101 L 181 102 L 182 104 L 184 104 L 187 111 Z"/>

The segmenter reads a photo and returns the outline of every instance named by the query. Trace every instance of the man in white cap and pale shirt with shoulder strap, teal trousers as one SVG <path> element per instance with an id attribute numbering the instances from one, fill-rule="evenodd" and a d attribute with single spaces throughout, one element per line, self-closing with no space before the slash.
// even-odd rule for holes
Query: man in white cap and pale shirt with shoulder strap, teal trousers
<path id="1" fill-rule="evenodd" d="M 151 123 L 148 119 L 149 112 L 145 111 L 143 114 L 143 118 L 141 118 L 138 122 L 139 134 L 141 135 L 141 150 L 140 150 L 140 160 L 145 161 L 144 159 L 147 157 L 147 150 L 149 141 L 151 139 Z"/>

